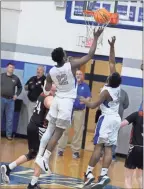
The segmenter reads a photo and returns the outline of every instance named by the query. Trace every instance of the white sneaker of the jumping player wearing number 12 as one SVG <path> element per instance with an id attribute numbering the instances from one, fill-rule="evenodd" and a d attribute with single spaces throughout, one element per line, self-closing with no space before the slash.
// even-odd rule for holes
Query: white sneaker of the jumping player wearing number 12
<path id="1" fill-rule="evenodd" d="M 37 156 L 35 163 L 38 164 L 38 166 L 48 175 L 51 175 L 51 170 L 48 165 L 48 161 L 42 156 Z"/>

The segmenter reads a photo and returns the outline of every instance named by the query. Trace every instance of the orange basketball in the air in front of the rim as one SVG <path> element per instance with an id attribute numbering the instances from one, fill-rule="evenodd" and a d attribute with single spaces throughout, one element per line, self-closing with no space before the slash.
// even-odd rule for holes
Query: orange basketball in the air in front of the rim
<path id="1" fill-rule="evenodd" d="M 94 19 L 99 24 L 105 24 L 110 21 L 111 13 L 105 8 L 98 9 L 94 12 Z"/>

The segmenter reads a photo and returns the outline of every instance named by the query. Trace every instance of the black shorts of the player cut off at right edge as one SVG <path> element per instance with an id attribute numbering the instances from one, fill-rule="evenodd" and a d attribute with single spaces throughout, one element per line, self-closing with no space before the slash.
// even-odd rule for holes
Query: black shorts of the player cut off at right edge
<path id="1" fill-rule="evenodd" d="M 130 144 L 125 167 L 128 169 L 143 169 L 143 147 Z"/>

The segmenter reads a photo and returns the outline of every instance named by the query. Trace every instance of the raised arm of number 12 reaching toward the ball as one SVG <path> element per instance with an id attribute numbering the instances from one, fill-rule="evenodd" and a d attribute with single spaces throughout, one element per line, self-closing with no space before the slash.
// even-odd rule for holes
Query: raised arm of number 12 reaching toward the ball
<path id="1" fill-rule="evenodd" d="M 102 34 L 103 30 L 104 29 L 102 27 L 99 27 L 99 29 L 97 31 L 94 30 L 94 40 L 93 40 L 92 46 L 89 50 L 89 53 L 80 59 L 71 60 L 70 63 L 71 63 L 72 68 L 74 68 L 74 69 L 78 68 L 79 66 L 86 64 L 89 60 L 91 60 L 93 58 L 95 51 L 96 51 L 98 38 Z"/>

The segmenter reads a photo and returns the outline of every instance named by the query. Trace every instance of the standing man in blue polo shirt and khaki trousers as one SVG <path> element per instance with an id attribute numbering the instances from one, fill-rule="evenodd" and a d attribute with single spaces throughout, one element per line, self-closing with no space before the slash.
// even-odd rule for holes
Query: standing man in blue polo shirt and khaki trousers
<path id="1" fill-rule="evenodd" d="M 80 158 L 79 151 L 81 149 L 82 144 L 82 136 L 83 136 L 83 128 L 84 128 L 84 120 L 85 120 L 85 108 L 84 104 L 80 104 L 79 96 L 83 96 L 90 100 L 91 92 L 88 84 L 83 82 L 84 75 L 80 70 L 76 72 L 77 79 L 77 98 L 73 107 L 73 119 L 72 126 L 74 127 L 74 136 L 71 143 L 71 148 L 73 151 L 73 158 Z M 68 131 L 69 128 L 66 129 L 63 136 L 59 140 L 58 145 L 58 155 L 63 156 L 63 152 L 67 146 L 68 142 Z"/>

